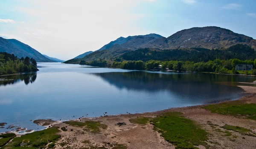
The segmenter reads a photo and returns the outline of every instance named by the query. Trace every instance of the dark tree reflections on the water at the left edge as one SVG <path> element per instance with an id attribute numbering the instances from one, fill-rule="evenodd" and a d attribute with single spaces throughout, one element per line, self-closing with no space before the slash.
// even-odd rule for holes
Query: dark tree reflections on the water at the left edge
<path id="1" fill-rule="evenodd" d="M 21 75 L 4 76 L 0 77 L 0 86 L 13 85 L 18 82 L 24 81 L 26 85 L 35 82 L 37 73 L 25 73 Z"/>

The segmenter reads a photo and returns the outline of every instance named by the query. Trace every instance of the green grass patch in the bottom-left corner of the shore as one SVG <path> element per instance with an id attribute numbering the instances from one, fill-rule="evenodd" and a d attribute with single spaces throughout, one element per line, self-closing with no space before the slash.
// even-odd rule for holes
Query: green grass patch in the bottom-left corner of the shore
<path id="1" fill-rule="evenodd" d="M 51 127 L 41 131 L 32 132 L 30 134 L 22 135 L 21 137 L 14 138 L 12 142 L 3 146 L 3 149 L 41 149 L 48 143 L 57 141 L 61 135 L 56 135 L 58 127 Z M 21 143 L 23 144 L 22 146 Z"/>

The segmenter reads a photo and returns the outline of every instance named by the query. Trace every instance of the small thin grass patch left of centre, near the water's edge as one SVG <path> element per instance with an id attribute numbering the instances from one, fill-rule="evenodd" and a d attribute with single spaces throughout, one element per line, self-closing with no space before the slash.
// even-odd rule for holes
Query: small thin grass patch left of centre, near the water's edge
<path id="1" fill-rule="evenodd" d="M 65 124 L 69 124 L 72 126 L 77 126 L 77 127 L 84 127 L 86 126 L 87 129 L 89 129 L 91 132 L 99 132 L 100 128 L 106 129 L 107 125 L 101 124 L 98 121 L 85 121 L 85 122 L 78 122 L 78 121 L 65 121 Z"/>

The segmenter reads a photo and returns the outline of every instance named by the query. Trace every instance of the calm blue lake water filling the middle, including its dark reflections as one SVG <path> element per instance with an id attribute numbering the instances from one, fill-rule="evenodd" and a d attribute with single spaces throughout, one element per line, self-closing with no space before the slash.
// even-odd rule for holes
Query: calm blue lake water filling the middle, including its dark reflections
<path id="1" fill-rule="evenodd" d="M 207 73 L 131 71 L 38 63 L 37 73 L 0 77 L 0 123 L 42 129 L 35 119 L 68 120 L 108 112 L 152 112 L 238 99 L 233 82 L 255 77 Z M 230 84 L 230 85 L 227 85 Z M 32 120 L 32 121 L 30 121 Z M 10 131 L 2 128 L 0 132 Z"/>

